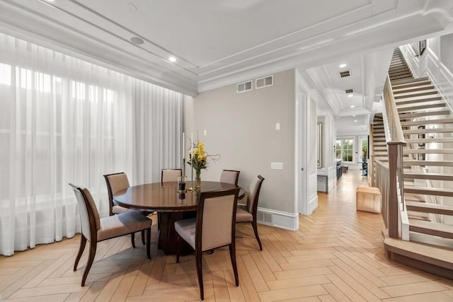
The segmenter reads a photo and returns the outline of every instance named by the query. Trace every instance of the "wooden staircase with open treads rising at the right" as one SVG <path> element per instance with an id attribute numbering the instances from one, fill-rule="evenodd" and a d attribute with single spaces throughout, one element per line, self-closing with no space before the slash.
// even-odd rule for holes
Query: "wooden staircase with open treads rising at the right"
<path id="1" fill-rule="evenodd" d="M 410 242 L 386 238 L 386 248 L 395 260 L 453 279 L 453 207 L 447 205 L 453 205 L 452 112 L 430 79 L 413 77 L 399 48 L 389 79 L 408 143 L 403 166 Z M 379 117 L 374 122 L 373 135 L 382 124 Z"/>

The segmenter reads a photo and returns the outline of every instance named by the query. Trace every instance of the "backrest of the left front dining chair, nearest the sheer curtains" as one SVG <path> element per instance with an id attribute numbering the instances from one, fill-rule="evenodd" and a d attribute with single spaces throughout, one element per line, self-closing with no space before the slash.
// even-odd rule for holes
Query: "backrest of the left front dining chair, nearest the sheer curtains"
<path id="1" fill-rule="evenodd" d="M 91 241 L 91 238 L 96 236 L 96 232 L 101 228 L 101 218 L 99 217 L 99 212 L 94 203 L 93 196 L 91 196 L 91 192 L 86 187 L 82 189 L 76 185 L 69 185 L 76 195 L 82 234 L 86 240 Z M 96 240 L 96 238 L 93 238 L 93 240 Z"/>

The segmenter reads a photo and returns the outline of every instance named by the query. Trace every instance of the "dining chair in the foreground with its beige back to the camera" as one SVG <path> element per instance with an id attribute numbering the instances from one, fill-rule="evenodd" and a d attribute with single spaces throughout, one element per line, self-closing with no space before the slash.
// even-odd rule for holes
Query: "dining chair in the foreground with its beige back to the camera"
<path id="1" fill-rule="evenodd" d="M 239 187 L 231 190 L 201 192 L 197 209 L 197 217 L 175 222 L 178 250 L 176 262 L 179 262 L 181 238 L 195 250 L 198 286 L 200 299 L 205 298 L 203 287 L 202 252 L 229 246 L 231 265 L 233 266 L 236 286 L 239 286 L 236 265 L 236 203 Z"/>

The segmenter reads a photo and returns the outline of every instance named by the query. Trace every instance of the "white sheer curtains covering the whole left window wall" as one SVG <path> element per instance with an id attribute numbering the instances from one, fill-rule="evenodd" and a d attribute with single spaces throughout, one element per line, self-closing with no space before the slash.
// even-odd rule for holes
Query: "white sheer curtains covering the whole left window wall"
<path id="1" fill-rule="evenodd" d="M 179 105 L 166 108 L 167 97 Z M 103 174 L 173 164 L 180 152 L 178 99 L 179 93 L 0 33 L 0 255 L 79 232 L 68 182 L 88 187 L 105 216 Z M 142 115 L 134 117 L 134 103 Z M 168 122 L 164 132 L 149 127 L 156 121 Z M 136 129 L 142 142 L 134 142 Z M 166 155 L 134 158 L 135 145 L 151 155 L 154 144 Z"/>

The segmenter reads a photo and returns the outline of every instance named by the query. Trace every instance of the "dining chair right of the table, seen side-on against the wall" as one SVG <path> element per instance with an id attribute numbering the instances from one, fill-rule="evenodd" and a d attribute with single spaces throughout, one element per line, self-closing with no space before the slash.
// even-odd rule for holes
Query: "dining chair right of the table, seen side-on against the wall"
<path id="1" fill-rule="evenodd" d="M 247 204 L 238 204 L 236 211 L 236 223 L 250 222 L 255 232 L 256 240 L 260 245 L 260 250 L 263 250 L 261 245 L 260 236 L 258 236 L 258 226 L 256 222 L 256 211 L 258 209 L 258 197 L 260 197 L 261 185 L 263 184 L 264 178 L 261 175 L 256 177 L 256 181 L 252 182 L 250 191 L 247 196 Z"/>

